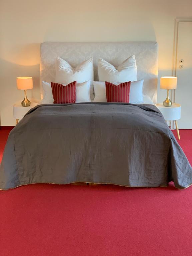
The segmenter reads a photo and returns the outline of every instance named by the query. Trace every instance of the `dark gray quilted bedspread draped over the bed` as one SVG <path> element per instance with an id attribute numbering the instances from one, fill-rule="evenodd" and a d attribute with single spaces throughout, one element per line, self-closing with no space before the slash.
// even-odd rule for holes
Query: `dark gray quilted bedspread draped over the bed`
<path id="1" fill-rule="evenodd" d="M 10 132 L 0 189 L 31 183 L 192 184 L 192 168 L 153 105 L 38 105 Z"/>

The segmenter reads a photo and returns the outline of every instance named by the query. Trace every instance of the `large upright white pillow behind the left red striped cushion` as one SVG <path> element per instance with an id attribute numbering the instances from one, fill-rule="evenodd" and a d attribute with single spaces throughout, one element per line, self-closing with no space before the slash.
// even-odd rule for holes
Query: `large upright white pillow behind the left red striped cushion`
<path id="1" fill-rule="evenodd" d="M 91 81 L 90 94 L 93 94 L 93 58 L 83 61 L 76 68 L 71 67 L 67 61 L 59 57 L 56 58 L 55 83 L 69 84 L 73 81 L 77 81 L 79 84 L 88 80 Z"/>

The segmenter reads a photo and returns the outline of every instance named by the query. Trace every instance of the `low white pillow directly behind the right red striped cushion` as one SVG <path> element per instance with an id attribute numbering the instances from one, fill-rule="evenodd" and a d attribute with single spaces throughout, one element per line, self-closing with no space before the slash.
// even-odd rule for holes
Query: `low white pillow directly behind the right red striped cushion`
<path id="1" fill-rule="evenodd" d="M 130 93 L 129 93 L 129 103 L 139 104 L 143 102 L 143 81 L 131 82 Z M 122 82 L 112 82 L 118 85 Z M 93 82 L 95 98 L 94 102 L 107 102 L 105 82 Z"/>

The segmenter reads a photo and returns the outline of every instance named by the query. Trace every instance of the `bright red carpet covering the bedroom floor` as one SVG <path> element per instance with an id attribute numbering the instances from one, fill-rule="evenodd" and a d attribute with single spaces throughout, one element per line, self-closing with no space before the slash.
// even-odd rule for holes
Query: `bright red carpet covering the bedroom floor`
<path id="1" fill-rule="evenodd" d="M 0 130 L 0 156 L 8 133 Z M 192 163 L 192 130 L 180 135 Z M 191 256 L 192 186 L 34 184 L 0 191 L 0 255 Z"/>

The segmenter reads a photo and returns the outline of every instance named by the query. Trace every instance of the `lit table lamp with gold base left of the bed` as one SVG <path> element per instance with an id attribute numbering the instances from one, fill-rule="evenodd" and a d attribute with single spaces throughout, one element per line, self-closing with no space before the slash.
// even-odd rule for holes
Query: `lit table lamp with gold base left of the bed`
<path id="1" fill-rule="evenodd" d="M 33 89 L 33 78 L 30 77 L 30 76 L 17 77 L 17 89 L 18 90 L 25 90 L 25 98 L 21 102 L 21 105 L 23 107 L 30 106 L 31 102 L 27 99 L 26 90 Z"/>

